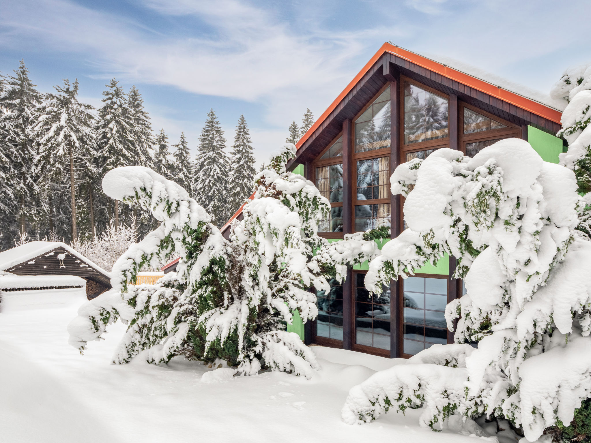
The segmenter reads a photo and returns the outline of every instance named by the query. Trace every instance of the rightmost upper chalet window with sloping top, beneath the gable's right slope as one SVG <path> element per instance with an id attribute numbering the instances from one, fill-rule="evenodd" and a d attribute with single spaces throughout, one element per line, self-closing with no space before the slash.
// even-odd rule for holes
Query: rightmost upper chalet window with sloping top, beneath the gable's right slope
<path id="1" fill-rule="evenodd" d="M 521 128 L 466 105 L 460 106 L 460 122 L 461 144 L 468 157 L 504 138 L 521 136 Z"/>

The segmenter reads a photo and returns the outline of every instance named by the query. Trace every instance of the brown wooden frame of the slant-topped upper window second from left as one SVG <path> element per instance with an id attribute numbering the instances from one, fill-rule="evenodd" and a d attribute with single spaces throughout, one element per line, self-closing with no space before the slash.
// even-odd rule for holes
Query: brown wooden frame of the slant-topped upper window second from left
<path id="1" fill-rule="evenodd" d="M 352 226 L 352 232 L 357 232 L 355 230 L 355 206 L 357 206 L 358 204 L 361 204 L 361 202 L 363 202 L 362 204 L 390 204 L 391 203 L 391 198 L 387 197 L 387 198 L 372 198 L 371 200 L 357 200 L 357 162 L 359 160 L 368 160 L 371 158 L 380 158 L 380 157 L 388 157 L 388 162 L 390 165 L 390 170 L 392 168 L 392 157 L 391 157 L 391 152 L 392 152 L 392 140 L 390 140 L 390 146 L 388 146 L 388 148 L 380 148 L 380 149 L 374 149 L 373 151 L 365 151 L 365 152 L 355 152 L 355 122 L 356 120 L 359 119 L 359 117 L 361 117 L 363 115 L 363 113 L 368 110 L 369 106 L 371 106 L 376 99 L 378 99 L 379 96 L 381 96 L 384 91 L 386 89 L 388 89 L 389 86 L 391 86 L 391 82 L 386 83 L 384 86 L 381 87 L 381 89 L 378 91 L 378 93 L 376 93 L 371 99 L 368 100 L 368 103 L 363 106 L 363 108 L 361 109 L 361 111 L 359 111 L 359 113 L 355 116 L 355 118 L 352 119 L 352 123 L 351 123 L 351 140 L 352 140 L 352 145 L 351 145 L 351 151 L 352 151 L 352 159 L 351 159 L 351 178 L 352 180 L 350 180 L 350 184 L 349 184 L 349 188 L 350 188 L 350 193 L 351 193 L 351 226 Z M 389 175 L 388 175 L 389 177 Z M 392 206 L 390 206 L 390 214 L 392 214 Z M 354 342 L 354 340 L 353 340 Z"/>

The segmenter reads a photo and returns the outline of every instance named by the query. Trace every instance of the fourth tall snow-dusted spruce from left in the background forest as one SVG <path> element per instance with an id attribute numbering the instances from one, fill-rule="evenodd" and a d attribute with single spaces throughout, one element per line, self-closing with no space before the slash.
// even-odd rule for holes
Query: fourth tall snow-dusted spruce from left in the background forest
<path id="1" fill-rule="evenodd" d="M 154 145 L 154 135 L 150 125 L 150 116 L 144 109 L 144 99 L 135 86 L 127 94 L 129 125 L 134 137 L 131 141 L 131 164 L 135 166 L 152 167 L 154 159 L 150 148 Z"/>

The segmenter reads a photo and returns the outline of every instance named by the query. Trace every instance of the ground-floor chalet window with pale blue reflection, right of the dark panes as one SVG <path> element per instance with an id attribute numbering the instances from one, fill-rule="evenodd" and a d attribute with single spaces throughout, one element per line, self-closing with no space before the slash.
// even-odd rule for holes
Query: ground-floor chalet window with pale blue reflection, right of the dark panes
<path id="1" fill-rule="evenodd" d="M 404 279 L 404 354 L 447 343 L 447 278 Z"/>

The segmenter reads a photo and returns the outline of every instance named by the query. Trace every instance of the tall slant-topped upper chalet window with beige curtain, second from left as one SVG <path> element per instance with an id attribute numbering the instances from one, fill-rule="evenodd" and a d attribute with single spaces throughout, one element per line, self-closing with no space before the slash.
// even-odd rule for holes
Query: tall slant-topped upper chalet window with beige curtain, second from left
<path id="1" fill-rule="evenodd" d="M 353 229 L 390 224 L 390 87 L 355 120 Z"/>

